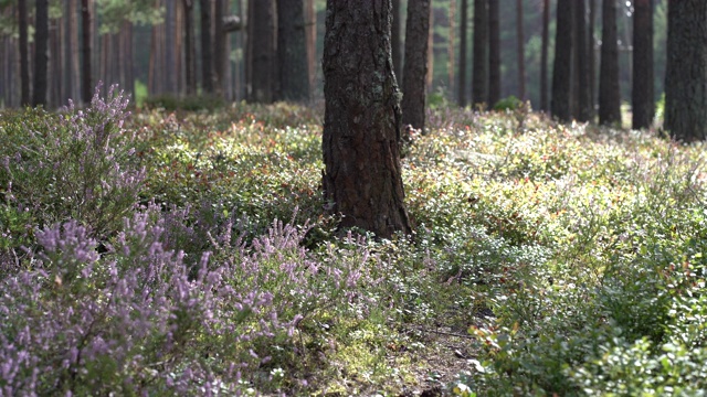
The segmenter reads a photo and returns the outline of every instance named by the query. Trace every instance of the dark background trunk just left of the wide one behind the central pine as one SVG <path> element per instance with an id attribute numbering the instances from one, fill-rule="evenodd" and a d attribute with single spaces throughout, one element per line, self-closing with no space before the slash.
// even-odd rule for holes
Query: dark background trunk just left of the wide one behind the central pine
<path id="1" fill-rule="evenodd" d="M 275 4 L 273 0 L 255 0 L 251 2 L 253 34 L 252 43 L 252 92 L 251 101 L 272 103 L 275 100 L 276 77 L 276 37 Z"/>

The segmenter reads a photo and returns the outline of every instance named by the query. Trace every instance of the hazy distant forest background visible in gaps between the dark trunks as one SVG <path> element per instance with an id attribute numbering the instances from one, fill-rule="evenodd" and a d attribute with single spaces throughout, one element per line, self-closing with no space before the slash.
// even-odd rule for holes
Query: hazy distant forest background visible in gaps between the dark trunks
<path id="1" fill-rule="evenodd" d="M 252 0 L 251 0 L 252 1 Z M 225 100 L 249 99 L 249 40 L 250 29 L 262 23 L 253 19 L 251 28 L 243 28 L 247 23 L 249 2 L 246 0 L 207 0 L 191 1 L 194 37 L 189 40 L 194 46 L 193 69 L 188 71 L 184 61 L 184 46 L 188 39 L 183 33 L 184 3 L 182 1 L 166 0 L 95 0 L 88 1 L 92 12 L 92 82 L 104 84 L 119 84 L 133 98 L 140 104 L 146 97 L 160 95 L 187 96 L 204 93 L 202 79 L 203 47 L 201 4 L 209 3 L 210 39 L 213 58 L 217 65 L 215 77 L 218 86 L 214 93 Z M 599 2 L 595 0 L 595 17 L 593 18 L 593 46 L 595 62 L 599 64 L 601 45 L 601 14 Z M 430 47 L 431 55 L 428 75 L 428 89 L 431 94 L 429 103 L 439 104 L 443 100 L 456 101 L 460 78 L 460 22 L 462 0 L 432 1 Z M 540 105 L 540 60 L 542 33 L 542 0 L 523 0 L 523 32 L 525 43 L 526 99 L 534 108 Z M 550 1 L 550 34 L 549 34 L 549 65 L 551 73 L 555 42 L 556 1 Z M 19 107 L 21 105 L 20 87 L 20 55 L 19 55 L 19 23 L 18 0 L 0 0 L 0 107 Z M 34 1 L 27 1 L 29 21 L 29 72 L 30 81 L 33 76 L 34 62 Z M 48 106 L 59 107 L 66 104 L 68 98 L 78 101 L 81 98 L 78 83 L 82 78 L 80 62 L 82 62 L 80 37 L 83 33 L 81 23 L 81 0 L 50 0 L 49 1 L 49 86 Z M 619 1 L 618 36 L 620 57 L 620 84 L 622 101 L 631 98 L 632 76 L 632 2 Z M 305 23 L 307 26 L 308 44 L 307 57 L 312 78 L 310 99 L 323 97 L 323 76 L 320 60 L 324 41 L 325 0 L 305 1 Z M 407 1 L 400 1 L 400 33 L 401 50 L 404 45 Z M 500 26 L 500 63 L 502 93 L 500 96 L 519 96 L 520 82 L 518 77 L 517 53 L 517 1 L 499 1 Z M 655 60 L 655 98 L 663 94 L 665 71 L 666 42 L 666 8 L 664 0 L 655 1 L 654 12 L 654 60 Z M 588 8 L 588 11 L 589 12 Z M 468 7 L 468 23 L 466 43 L 468 58 L 466 62 L 466 82 L 471 82 L 473 53 L 473 12 Z M 219 21 L 217 15 L 221 15 Z M 588 21 L 589 21 L 588 15 Z M 223 35 L 214 34 L 219 29 L 230 30 Z M 219 40 L 223 39 L 220 43 Z M 312 53 L 312 47 L 315 52 Z M 220 50 L 223 49 L 223 50 Z M 171 62 L 168 60 L 172 60 Z M 222 71 L 222 72 L 220 72 Z M 599 73 L 599 67 L 594 68 Z M 191 74 L 191 75 L 189 75 Z M 399 83 L 401 82 L 398 76 Z M 598 84 L 599 78 L 594 79 Z M 471 96 L 471 84 L 465 84 Z M 30 85 L 32 86 L 32 85 Z M 549 89 L 549 87 L 547 88 Z M 93 90 L 93 89 L 92 89 Z M 594 87 L 597 92 L 597 87 Z"/>

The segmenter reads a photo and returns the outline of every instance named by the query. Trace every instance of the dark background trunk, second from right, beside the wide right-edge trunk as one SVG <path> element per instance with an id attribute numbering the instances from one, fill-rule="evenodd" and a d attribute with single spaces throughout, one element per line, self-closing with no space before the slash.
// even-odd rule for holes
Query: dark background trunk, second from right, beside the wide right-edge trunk
<path id="1" fill-rule="evenodd" d="M 650 128 L 655 116 L 653 99 L 653 0 L 633 2 L 632 128 Z"/>

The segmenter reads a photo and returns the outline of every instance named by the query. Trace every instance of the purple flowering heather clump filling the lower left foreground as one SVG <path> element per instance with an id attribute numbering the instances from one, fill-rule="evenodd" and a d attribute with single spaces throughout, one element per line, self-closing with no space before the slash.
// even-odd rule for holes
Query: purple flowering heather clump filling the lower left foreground
<path id="1" fill-rule="evenodd" d="M 168 233 L 156 207 L 103 255 L 76 221 L 36 230 L 33 270 L 0 287 L 0 396 L 240 394 L 263 382 L 271 343 L 292 346 L 304 316 L 370 285 L 361 245 L 316 259 L 279 222 L 250 246 L 214 235 L 224 260 L 203 253 L 194 277 Z"/>

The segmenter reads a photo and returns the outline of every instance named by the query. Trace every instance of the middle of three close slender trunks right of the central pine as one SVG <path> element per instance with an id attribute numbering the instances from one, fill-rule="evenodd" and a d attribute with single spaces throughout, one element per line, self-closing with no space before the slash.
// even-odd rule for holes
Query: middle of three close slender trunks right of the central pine
<path id="1" fill-rule="evenodd" d="M 486 104 L 488 97 L 488 0 L 474 0 L 474 71 L 472 72 L 472 104 Z"/>

